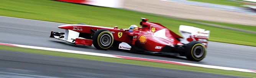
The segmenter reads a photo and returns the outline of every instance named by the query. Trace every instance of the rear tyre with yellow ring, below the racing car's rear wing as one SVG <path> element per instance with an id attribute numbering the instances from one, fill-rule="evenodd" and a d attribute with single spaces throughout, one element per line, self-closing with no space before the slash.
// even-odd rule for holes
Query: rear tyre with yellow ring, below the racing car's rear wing
<path id="1" fill-rule="evenodd" d="M 191 41 L 185 48 L 187 59 L 192 61 L 200 61 L 206 56 L 205 46 L 198 41 Z"/>

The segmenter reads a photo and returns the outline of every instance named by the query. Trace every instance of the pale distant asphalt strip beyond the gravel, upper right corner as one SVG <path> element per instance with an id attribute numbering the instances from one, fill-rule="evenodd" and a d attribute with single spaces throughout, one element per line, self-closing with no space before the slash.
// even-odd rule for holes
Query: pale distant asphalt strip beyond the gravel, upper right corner
<path id="1" fill-rule="evenodd" d="M 236 6 L 218 5 L 213 3 L 194 2 L 194 1 L 188 1 L 188 0 L 166 0 L 166 1 L 179 2 L 179 3 L 189 4 L 189 5 L 203 6 L 203 7 L 215 8 L 219 10 L 235 11 L 240 13 L 256 15 L 255 12 L 249 11 L 246 8 L 236 7 Z"/>

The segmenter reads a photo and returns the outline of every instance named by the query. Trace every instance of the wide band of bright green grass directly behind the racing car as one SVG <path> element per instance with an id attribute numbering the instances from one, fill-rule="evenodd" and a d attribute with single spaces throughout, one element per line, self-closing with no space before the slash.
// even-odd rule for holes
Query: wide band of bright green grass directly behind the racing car
<path id="1" fill-rule="evenodd" d="M 256 36 L 253 33 L 222 29 L 154 14 L 55 0 L 1 0 L 0 15 L 67 24 L 85 23 L 107 27 L 118 25 L 119 28 L 128 28 L 132 24 L 139 25 L 141 21 L 139 18 L 148 18 L 150 22 L 161 23 L 176 33 L 178 33 L 179 25 L 190 25 L 210 30 L 210 41 L 256 46 L 256 40 L 254 40 Z M 244 28 L 251 29 L 249 26 L 244 26 Z"/>

